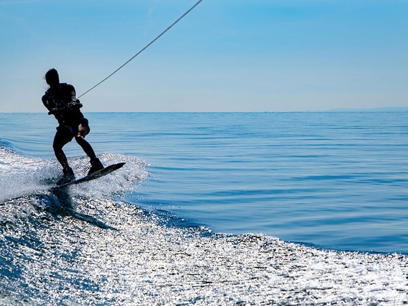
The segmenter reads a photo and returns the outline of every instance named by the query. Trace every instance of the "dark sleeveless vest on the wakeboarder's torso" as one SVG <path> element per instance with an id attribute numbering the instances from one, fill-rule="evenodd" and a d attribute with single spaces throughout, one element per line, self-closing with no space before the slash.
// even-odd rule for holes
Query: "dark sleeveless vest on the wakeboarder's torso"
<path id="1" fill-rule="evenodd" d="M 77 100 L 75 95 L 75 89 L 72 85 L 60 83 L 60 90 L 48 88 L 45 91 L 45 94 L 42 96 L 42 103 L 48 111 L 52 109 L 59 110 L 54 112 L 54 116 L 60 125 L 76 125 L 84 118 L 84 115 L 78 108 L 67 107 L 70 103 Z"/>

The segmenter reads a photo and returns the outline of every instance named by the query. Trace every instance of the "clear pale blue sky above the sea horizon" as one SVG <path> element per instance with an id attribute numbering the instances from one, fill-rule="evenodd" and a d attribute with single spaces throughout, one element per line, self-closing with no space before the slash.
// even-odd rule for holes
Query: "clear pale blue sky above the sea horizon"
<path id="1" fill-rule="evenodd" d="M 197 0 L 0 0 L 0 112 L 79 96 Z M 203 0 L 81 98 L 84 112 L 408 106 L 408 0 Z"/>

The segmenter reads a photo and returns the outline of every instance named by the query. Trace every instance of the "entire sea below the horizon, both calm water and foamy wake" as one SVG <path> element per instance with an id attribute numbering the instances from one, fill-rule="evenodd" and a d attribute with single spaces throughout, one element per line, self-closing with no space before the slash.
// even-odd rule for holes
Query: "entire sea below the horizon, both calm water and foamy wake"
<path id="1" fill-rule="evenodd" d="M 0 113 L 0 305 L 408 303 L 408 113 Z M 89 159 L 64 147 L 77 178 Z"/>

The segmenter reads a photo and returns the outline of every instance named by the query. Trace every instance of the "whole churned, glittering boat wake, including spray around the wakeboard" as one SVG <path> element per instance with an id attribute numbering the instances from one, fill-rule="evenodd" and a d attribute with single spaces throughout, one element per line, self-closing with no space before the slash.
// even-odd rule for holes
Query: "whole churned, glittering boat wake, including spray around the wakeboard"
<path id="1" fill-rule="evenodd" d="M 213 234 L 126 202 L 138 158 L 92 182 L 48 191 L 56 162 L 2 148 L 0 304 L 408 303 L 408 258 L 338 252 L 263 235 Z M 87 159 L 70 164 L 82 176 Z M 23 175 L 25 174 L 25 175 Z M 175 218 L 175 217 L 173 217 Z"/>

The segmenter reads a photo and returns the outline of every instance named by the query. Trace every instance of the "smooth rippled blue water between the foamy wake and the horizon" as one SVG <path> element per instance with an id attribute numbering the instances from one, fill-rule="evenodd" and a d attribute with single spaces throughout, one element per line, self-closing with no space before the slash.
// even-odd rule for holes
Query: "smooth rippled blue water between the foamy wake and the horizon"
<path id="1" fill-rule="evenodd" d="M 95 151 L 148 163 L 127 200 L 213 232 L 408 253 L 408 114 L 90 113 Z M 52 159 L 55 120 L 2 114 L 0 138 Z M 69 156 L 83 152 L 72 142 Z"/>

